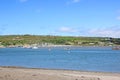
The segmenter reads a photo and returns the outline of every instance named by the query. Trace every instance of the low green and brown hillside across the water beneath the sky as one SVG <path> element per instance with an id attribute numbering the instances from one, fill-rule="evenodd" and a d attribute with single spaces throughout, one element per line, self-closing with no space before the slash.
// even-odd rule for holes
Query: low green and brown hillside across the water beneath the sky
<path id="1" fill-rule="evenodd" d="M 4 35 L 0 36 L 0 45 L 25 44 L 55 44 L 55 45 L 87 45 L 108 46 L 120 45 L 120 38 L 109 37 L 72 37 L 72 36 L 42 36 L 42 35 Z"/>

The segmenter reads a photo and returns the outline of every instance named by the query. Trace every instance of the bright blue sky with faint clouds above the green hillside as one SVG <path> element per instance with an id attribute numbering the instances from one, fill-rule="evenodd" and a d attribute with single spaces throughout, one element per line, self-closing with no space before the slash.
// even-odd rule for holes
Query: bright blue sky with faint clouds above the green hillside
<path id="1" fill-rule="evenodd" d="M 0 35 L 120 38 L 120 0 L 0 0 Z"/>

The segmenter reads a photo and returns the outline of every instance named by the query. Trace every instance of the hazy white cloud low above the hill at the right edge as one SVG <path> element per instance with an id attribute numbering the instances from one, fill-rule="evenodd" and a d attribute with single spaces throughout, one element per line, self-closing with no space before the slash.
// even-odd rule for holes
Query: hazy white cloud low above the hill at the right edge
<path id="1" fill-rule="evenodd" d="M 88 34 L 100 37 L 120 37 L 120 26 L 114 26 L 110 28 L 90 29 Z"/>

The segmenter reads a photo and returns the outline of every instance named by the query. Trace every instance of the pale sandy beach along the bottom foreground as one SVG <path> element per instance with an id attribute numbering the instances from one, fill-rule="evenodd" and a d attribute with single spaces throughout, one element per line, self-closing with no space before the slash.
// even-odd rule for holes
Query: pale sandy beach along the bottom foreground
<path id="1" fill-rule="evenodd" d="M 0 80 L 120 80 L 120 73 L 1 66 Z"/>

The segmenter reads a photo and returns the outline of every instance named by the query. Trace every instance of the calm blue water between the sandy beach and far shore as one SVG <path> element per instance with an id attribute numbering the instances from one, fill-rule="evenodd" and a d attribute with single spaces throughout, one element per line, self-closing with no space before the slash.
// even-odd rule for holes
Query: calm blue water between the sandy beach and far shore
<path id="1" fill-rule="evenodd" d="M 119 72 L 120 50 L 110 47 L 0 49 L 0 66 Z"/>

